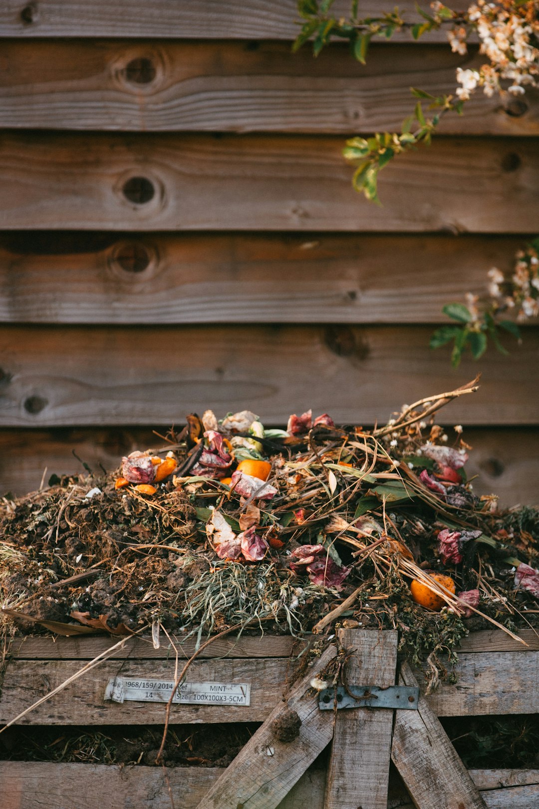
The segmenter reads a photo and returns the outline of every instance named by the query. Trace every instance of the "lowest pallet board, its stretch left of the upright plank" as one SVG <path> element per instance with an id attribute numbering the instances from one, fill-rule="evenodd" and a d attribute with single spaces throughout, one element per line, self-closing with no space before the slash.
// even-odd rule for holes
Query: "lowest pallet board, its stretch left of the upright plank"
<path id="1" fill-rule="evenodd" d="M 167 768 L 175 806 L 196 809 L 223 772 L 219 767 Z M 308 771 L 278 809 L 322 809 L 324 780 L 323 770 Z M 0 790 L 2 809 L 103 809 L 103 795 L 107 809 L 171 809 L 166 779 L 159 767 L 0 761 Z"/>

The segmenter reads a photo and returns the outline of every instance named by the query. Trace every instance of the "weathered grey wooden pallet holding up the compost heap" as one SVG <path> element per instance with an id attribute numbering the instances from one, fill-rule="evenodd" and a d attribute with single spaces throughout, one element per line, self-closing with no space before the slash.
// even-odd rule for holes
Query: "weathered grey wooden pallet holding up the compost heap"
<path id="1" fill-rule="evenodd" d="M 328 648 L 292 688 L 291 656 L 301 650 L 289 637 L 223 638 L 188 670 L 190 682 L 251 684 L 250 705 L 173 705 L 171 722 L 262 722 L 227 769 L 162 769 L 133 766 L 0 762 L 3 809 L 168 809 L 166 777 L 176 809 L 532 809 L 539 806 L 539 771 L 468 772 L 445 734 L 439 716 L 537 713 L 539 638 L 523 631 L 524 646 L 504 633 L 465 638 L 457 684 L 425 696 L 422 675 L 398 663 L 397 633 L 340 630 L 353 650 L 347 682 L 415 685 L 417 710 L 318 708 L 310 681 L 335 656 Z M 102 637 L 82 640 L 28 637 L 15 642 L 0 700 L 0 722 L 9 722 L 33 701 L 72 676 L 85 661 L 111 646 Z M 187 659 L 192 642 L 183 644 Z M 173 679 L 175 655 L 144 639 L 124 646 L 89 676 L 74 681 L 21 719 L 26 725 L 162 724 L 164 706 L 153 702 L 103 701 L 116 676 Z M 301 719 L 297 739 L 276 737 L 284 711 Z M 331 743 L 327 772 L 310 765 Z M 390 762 L 402 782 L 391 782 Z M 396 777 L 396 776 L 395 776 Z M 95 784 L 99 783 L 99 790 Z"/>

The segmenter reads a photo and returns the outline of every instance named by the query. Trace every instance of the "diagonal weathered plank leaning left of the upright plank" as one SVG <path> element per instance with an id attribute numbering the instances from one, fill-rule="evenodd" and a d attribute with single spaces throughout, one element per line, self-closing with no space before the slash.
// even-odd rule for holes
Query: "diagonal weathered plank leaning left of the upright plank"
<path id="1" fill-rule="evenodd" d="M 310 680 L 335 657 L 331 646 L 314 663 L 286 701 L 276 705 L 197 809 L 276 809 L 284 796 L 333 736 L 334 714 L 318 708 Z M 301 719 L 296 739 L 276 737 L 274 723 L 288 711 Z"/>

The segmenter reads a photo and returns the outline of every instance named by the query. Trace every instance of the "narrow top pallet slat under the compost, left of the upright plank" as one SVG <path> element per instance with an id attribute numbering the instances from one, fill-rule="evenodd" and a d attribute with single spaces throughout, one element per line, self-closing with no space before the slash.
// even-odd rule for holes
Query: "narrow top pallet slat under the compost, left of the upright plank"
<path id="1" fill-rule="evenodd" d="M 178 650 L 180 659 L 190 658 L 196 650 L 196 641 L 187 641 L 171 636 Z M 10 657 L 18 660 L 93 660 L 113 645 L 109 637 L 48 637 L 31 636 L 16 637 L 9 647 Z M 203 658 L 289 658 L 305 649 L 305 642 L 296 637 L 286 635 L 263 635 L 262 637 L 220 637 L 202 650 L 198 655 Z M 111 655 L 111 660 L 118 659 L 175 659 L 175 650 L 171 648 L 166 637 L 162 637 L 162 645 L 154 649 L 150 637 L 135 637 L 125 643 L 123 648 Z"/>

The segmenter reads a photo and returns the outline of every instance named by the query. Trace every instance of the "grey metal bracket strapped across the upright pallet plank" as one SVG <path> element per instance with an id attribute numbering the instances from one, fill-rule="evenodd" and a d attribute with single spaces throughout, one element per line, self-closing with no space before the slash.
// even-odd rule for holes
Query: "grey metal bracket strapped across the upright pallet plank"
<path id="1" fill-rule="evenodd" d="M 419 688 L 406 685 L 391 685 L 379 688 L 377 685 L 348 685 L 347 688 L 325 688 L 320 692 L 320 710 L 340 710 L 342 708 L 400 708 L 417 710 Z"/>

